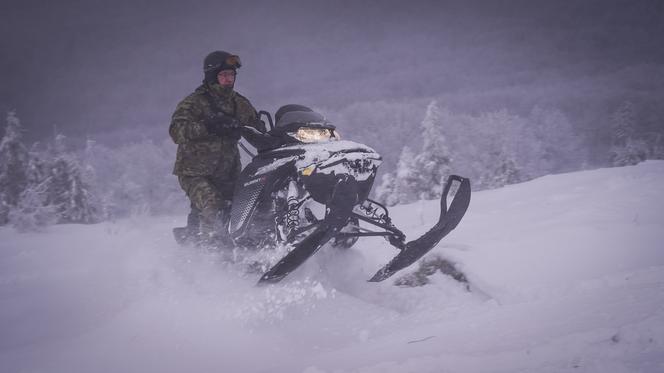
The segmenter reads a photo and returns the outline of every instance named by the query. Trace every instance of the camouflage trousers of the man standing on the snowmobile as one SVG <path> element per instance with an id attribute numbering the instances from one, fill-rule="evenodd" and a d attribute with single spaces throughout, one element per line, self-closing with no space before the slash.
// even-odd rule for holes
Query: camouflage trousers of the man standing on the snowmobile
<path id="1" fill-rule="evenodd" d="M 204 241 L 226 232 L 235 181 L 240 174 L 238 162 L 226 172 L 209 176 L 178 175 L 180 187 L 191 202 L 188 224 L 197 224 Z M 197 215 L 197 216 L 196 216 Z"/>

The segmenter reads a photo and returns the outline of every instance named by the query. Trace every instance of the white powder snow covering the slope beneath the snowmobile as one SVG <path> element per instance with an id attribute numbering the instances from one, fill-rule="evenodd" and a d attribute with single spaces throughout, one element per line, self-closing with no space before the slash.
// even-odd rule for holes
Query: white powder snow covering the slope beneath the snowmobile
<path id="1" fill-rule="evenodd" d="M 648 161 L 475 193 L 434 249 L 471 292 L 367 283 L 381 239 L 255 287 L 175 244 L 184 216 L 0 228 L 0 371 L 662 372 L 663 187 Z M 438 203 L 390 211 L 414 238 Z"/>

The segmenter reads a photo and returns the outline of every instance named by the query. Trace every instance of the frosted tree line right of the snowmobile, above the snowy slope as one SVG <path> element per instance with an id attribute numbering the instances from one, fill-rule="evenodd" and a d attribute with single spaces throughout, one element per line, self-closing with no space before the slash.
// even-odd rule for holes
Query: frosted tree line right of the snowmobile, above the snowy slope
<path id="1" fill-rule="evenodd" d="M 622 102 L 606 124 L 610 145 L 601 165 L 627 166 L 664 159 L 664 132 L 639 131 L 634 104 Z M 588 140 L 557 109 L 535 106 L 529 115 L 507 110 L 455 114 L 431 101 L 419 127 L 420 149 L 401 149 L 393 171 L 383 173 L 375 196 L 387 205 L 437 199 L 452 173 L 473 189 L 494 189 L 543 175 L 588 168 Z"/>

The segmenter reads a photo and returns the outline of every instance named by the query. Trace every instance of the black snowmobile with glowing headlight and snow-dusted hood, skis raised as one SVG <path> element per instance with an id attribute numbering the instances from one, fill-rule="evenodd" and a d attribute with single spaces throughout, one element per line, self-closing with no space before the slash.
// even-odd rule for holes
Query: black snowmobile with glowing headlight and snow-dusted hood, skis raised
<path id="1" fill-rule="evenodd" d="M 387 208 L 369 198 L 382 163 L 375 150 L 341 140 L 334 125 L 302 105 L 281 107 L 275 113 L 276 123 L 268 112 L 260 114 L 270 130 L 262 134 L 243 128 L 243 136 L 258 154 L 241 172 L 223 226 L 235 247 L 255 248 L 267 242 L 287 249 L 262 274 L 259 284 L 281 281 L 326 244 L 350 248 L 359 238 L 371 236 L 384 237 L 399 251 L 369 279 L 383 281 L 436 246 L 468 208 L 470 181 L 449 176 L 438 222 L 406 242 Z"/>

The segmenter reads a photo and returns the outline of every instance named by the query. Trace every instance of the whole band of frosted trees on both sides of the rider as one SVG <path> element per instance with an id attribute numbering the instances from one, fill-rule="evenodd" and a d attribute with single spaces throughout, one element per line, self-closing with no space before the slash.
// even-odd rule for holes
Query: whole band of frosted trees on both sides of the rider
<path id="1" fill-rule="evenodd" d="M 414 108 L 402 109 L 410 114 L 397 118 L 399 123 L 386 131 L 401 131 L 410 139 L 394 139 L 387 150 L 376 146 L 388 157 L 398 153 L 396 166 L 388 163 L 379 171 L 374 191 L 387 205 L 437 199 L 452 173 L 469 177 L 473 189 L 482 190 L 597 166 L 588 163 L 588 134 L 579 133 L 557 109 L 535 106 L 525 116 L 504 109 L 453 113 L 434 100 L 418 125 L 407 124 Z M 394 119 L 387 107 L 365 111 L 375 114 L 375 126 Z M 642 131 L 637 114 L 629 101 L 611 113 L 606 123 L 610 144 L 600 166 L 664 159 L 664 131 Z M 30 146 L 22 134 L 19 118 L 9 112 L 0 142 L 0 225 L 39 230 L 137 213 L 182 212 L 187 206 L 171 173 L 175 146 L 170 139 L 116 148 L 88 139 L 81 150 L 73 151 L 62 134 Z"/>

